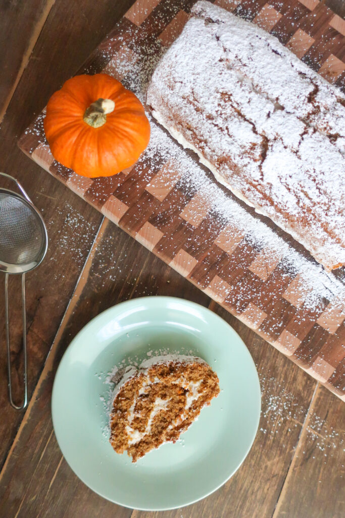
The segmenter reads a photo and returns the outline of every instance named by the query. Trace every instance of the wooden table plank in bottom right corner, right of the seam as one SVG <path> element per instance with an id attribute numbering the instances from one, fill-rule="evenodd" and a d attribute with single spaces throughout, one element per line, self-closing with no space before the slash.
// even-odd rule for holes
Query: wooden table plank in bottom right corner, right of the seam
<path id="1" fill-rule="evenodd" d="M 344 404 L 319 386 L 273 518 L 345 514 Z"/>

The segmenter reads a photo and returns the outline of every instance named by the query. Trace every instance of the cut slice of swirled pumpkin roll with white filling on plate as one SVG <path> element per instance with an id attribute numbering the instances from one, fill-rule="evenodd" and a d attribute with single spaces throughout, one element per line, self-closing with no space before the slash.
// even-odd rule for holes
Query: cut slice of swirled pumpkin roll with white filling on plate
<path id="1" fill-rule="evenodd" d="M 197 356 L 170 354 L 128 366 L 113 376 L 110 443 L 132 462 L 163 442 L 176 442 L 219 394 L 219 380 Z"/>

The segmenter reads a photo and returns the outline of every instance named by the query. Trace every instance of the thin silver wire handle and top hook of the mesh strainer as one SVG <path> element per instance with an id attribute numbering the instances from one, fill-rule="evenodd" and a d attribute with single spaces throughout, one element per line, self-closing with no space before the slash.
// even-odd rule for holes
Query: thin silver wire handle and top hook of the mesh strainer
<path id="1" fill-rule="evenodd" d="M 23 196 L 29 203 L 32 204 L 31 199 L 28 197 L 24 188 L 16 178 L 7 175 L 5 172 L 0 172 L 1 176 L 12 180 L 17 184 L 18 188 L 22 192 Z M 12 397 L 12 378 L 11 378 L 11 349 L 10 349 L 10 331 L 9 331 L 9 302 L 8 302 L 8 277 L 9 274 L 5 274 L 5 325 L 6 325 L 6 346 L 7 346 L 7 372 L 8 372 L 8 395 L 9 401 L 13 408 L 16 410 L 22 410 L 27 405 L 27 351 L 26 351 L 26 311 L 25 311 L 25 273 L 22 274 L 22 327 L 23 327 L 23 355 L 24 355 L 24 400 L 21 405 L 16 405 Z"/>

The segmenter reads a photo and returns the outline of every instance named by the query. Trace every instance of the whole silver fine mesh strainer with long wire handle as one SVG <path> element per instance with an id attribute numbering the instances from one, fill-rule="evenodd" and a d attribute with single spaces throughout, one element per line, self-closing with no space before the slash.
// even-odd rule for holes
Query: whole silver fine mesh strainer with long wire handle
<path id="1" fill-rule="evenodd" d="M 23 194 L 0 188 L 0 271 L 5 272 L 5 320 L 7 344 L 8 392 L 10 404 L 21 410 L 27 405 L 27 357 L 26 357 L 26 312 L 25 272 L 33 270 L 43 260 L 48 247 L 47 229 L 41 214 L 34 207 L 21 184 L 4 172 L 4 176 L 17 184 Z M 8 309 L 8 276 L 22 275 L 22 325 L 24 354 L 24 400 L 15 405 L 12 398 L 10 335 Z"/>

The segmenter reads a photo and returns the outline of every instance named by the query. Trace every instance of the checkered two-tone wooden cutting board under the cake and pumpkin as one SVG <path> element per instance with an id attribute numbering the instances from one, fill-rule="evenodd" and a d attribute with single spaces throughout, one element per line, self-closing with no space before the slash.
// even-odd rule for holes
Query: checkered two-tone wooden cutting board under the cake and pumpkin
<path id="1" fill-rule="evenodd" d="M 193 3 L 137 0 L 79 73 L 105 71 L 127 85 L 132 69 L 139 67 L 140 74 L 147 56 L 158 55 L 181 33 Z M 345 91 L 345 22 L 318 0 L 215 3 L 277 36 Z M 317 268 L 316 275 L 320 281 L 325 276 L 328 288 L 331 283 L 331 290 L 325 287 L 316 303 L 307 304 L 310 285 L 305 270 L 299 271 L 298 263 L 288 268 L 286 257 L 274 247 L 253 244 L 246 225 L 218 218 L 202 189 L 185 188 L 184 170 L 176 157 L 159 158 L 159 142 L 155 160 L 144 154 L 130 170 L 88 179 L 54 160 L 44 137 L 43 116 L 19 142 L 31 159 L 345 400 L 345 295 L 332 290 L 333 282 L 338 287 L 345 284 L 344 269 L 327 276 L 284 234 L 289 251 L 302 254 L 311 271 Z M 196 162 L 195 167 L 201 166 Z M 231 193 L 219 189 L 237 203 Z M 248 219 L 261 218 L 245 210 Z M 264 221 L 270 232 L 278 231 Z"/>

